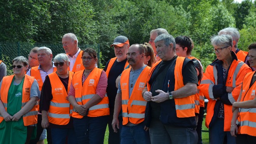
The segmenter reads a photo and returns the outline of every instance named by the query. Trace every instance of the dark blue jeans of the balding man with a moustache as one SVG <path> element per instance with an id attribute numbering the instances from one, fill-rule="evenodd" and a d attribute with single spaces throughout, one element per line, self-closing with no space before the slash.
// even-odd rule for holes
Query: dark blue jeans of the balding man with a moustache
<path id="1" fill-rule="evenodd" d="M 121 144 L 150 144 L 149 131 L 144 130 L 142 122 L 135 126 L 123 125 L 121 131 Z"/>

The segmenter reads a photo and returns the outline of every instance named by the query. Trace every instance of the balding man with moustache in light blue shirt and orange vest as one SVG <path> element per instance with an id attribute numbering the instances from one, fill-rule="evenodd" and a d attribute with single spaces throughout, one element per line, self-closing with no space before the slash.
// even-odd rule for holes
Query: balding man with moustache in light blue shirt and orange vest
<path id="1" fill-rule="evenodd" d="M 128 50 L 128 62 L 132 68 L 125 69 L 118 84 L 112 127 L 119 128 L 118 115 L 123 111 L 121 144 L 149 144 L 149 132 L 144 130 L 146 103 L 142 90 L 147 82 L 150 67 L 144 64 L 144 47 L 133 44 Z M 116 128 L 117 126 L 117 128 Z"/>

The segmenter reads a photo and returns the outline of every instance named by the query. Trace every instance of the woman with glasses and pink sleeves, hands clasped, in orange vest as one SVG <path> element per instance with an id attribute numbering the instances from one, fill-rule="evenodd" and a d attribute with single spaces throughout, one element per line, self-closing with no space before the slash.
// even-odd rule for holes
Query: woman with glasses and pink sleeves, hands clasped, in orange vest
<path id="1" fill-rule="evenodd" d="M 95 67 L 95 50 L 84 50 L 81 58 L 84 70 L 75 72 L 68 94 L 76 139 L 79 144 L 103 144 L 109 117 L 107 75 Z"/>

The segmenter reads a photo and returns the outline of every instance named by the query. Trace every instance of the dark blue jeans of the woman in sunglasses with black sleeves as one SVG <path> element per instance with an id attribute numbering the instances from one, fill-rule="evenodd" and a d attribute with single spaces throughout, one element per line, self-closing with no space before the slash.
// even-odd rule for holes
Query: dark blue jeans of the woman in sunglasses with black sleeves
<path id="1" fill-rule="evenodd" d="M 51 128 L 53 144 L 65 144 L 68 138 L 68 144 L 77 144 L 74 128 Z"/>

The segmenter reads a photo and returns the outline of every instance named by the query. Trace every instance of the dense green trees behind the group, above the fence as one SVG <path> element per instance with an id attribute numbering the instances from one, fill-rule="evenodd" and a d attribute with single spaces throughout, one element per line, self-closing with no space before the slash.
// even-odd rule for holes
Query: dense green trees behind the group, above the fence
<path id="1" fill-rule="evenodd" d="M 79 43 L 100 44 L 103 66 L 114 57 L 110 45 L 116 36 L 143 43 L 156 28 L 190 36 L 192 55 L 204 67 L 215 59 L 210 36 L 220 29 L 239 29 L 239 49 L 256 42 L 252 0 L 1 0 L 0 5 L 0 41 L 61 43 L 65 33 L 74 33 Z"/>

